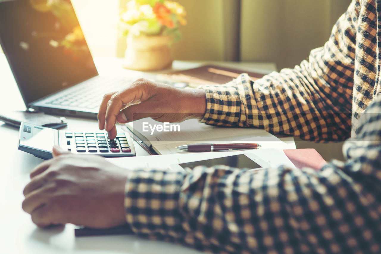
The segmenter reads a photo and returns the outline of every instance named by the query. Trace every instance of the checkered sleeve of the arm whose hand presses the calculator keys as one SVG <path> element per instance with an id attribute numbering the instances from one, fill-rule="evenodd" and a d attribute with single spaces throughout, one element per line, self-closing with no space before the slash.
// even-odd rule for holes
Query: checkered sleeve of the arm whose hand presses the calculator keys
<path id="1" fill-rule="evenodd" d="M 201 86 L 207 124 L 259 127 L 311 141 L 351 135 L 359 1 L 353 1 L 324 47 L 293 69 L 252 81 L 247 74 L 224 85 Z"/>

